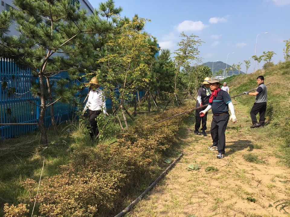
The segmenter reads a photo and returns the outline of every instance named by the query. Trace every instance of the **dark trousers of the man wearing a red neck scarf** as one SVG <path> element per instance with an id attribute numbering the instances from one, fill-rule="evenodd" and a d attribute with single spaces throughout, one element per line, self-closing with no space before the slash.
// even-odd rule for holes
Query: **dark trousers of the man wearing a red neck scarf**
<path id="1" fill-rule="evenodd" d="M 229 122 L 230 114 L 227 112 L 224 115 L 212 116 L 211 121 L 211 138 L 212 146 L 218 146 L 218 153 L 224 154 L 226 148 L 225 131 Z"/>

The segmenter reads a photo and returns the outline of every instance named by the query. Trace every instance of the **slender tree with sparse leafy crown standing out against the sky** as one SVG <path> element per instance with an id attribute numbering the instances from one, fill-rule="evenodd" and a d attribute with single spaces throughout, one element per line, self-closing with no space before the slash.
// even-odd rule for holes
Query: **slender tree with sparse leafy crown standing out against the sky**
<path id="1" fill-rule="evenodd" d="M 180 42 L 177 43 L 179 49 L 173 52 L 175 56 L 175 65 L 176 65 L 176 74 L 174 79 L 174 96 L 178 105 L 178 100 L 176 96 L 176 87 L 177 87 L 177 75 L 180 71 L 180 68 L 186 68 L 192 64 L 193 61 L 200 62 L 201 57 L 199 57 L 198 46 L 201 46 L 201 39 L 198 39 L 198 36 L 191 34 L 190 36 L 182 32 L 180 37 L 183 37 Z"/>

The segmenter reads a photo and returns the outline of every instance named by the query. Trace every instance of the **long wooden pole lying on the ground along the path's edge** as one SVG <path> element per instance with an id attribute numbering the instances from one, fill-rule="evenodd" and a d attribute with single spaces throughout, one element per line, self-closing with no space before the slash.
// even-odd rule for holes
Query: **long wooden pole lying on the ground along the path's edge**
<path id="1" fill-rule="evenodd" d="M 132 209 L 132 207 L 136 203 L 138 203 L 157 184 L 157 182 L 160 181 L 160 179 L 162 179 L 165 176 L 165 174 L 175 165 L 175 163 L 180 160 L 180 158 L 182 157 L 182 155 L 183 154 L 180 154 L 178 156 L 178 158 L 176 158 L 176 160 L 173 161 L 169 165 L 169 167 L 167 167 L 167 169 L 165 171 L 163 171 L 163 173 L 142 194 L 139 195 L 139 197 L 137 197 L 132 203 L 130 203 L 129 206 L 127 206 L 125 209 L 123 209 L 122 212 L 120 212 L 117 215 L 115 215 L 115 217 L 121 217 L 124 214 L 126 214 L 128 211 L 130 211 L 130 209 Z"/>

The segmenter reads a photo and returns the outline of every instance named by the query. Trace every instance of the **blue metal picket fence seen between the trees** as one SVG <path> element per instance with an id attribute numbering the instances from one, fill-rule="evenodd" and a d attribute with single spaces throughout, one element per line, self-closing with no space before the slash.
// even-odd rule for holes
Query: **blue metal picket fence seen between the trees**
<path id="1" fill-rule="evenodd" d="M 59 79 L 69 80 L 66 71 L 50 78 L 53 87 Z M 13 60 L 0 57 L 0 123 L 11 124 L 21 123 L 25 125 L 0 125 L 0 139 L 8 139 L 28 131 L 35 131 L 37 125 L 26 125 L 27 123 L 38 122 L 40 100 L 31 93 L 31 83 L 37 82 L 38 78 L 33 76 L 31 69 L 16 64 Z M 71 81 L 74 83 L 77 81 Z M 69 85 L 69 84 L 67 84 Z M 88 93 L 88 88 L 84 87 L 79 91 L 78 96 L 81 102 L 84 101 Z M 143 97 L 144 91 L 139 92 L 139 97 Z M 29 102 L 30 101 L 30 102 Z M 47 102 L 48 103 L 48 102 Z M 35 105 L 34 105 L 35 104 Z M 75 115 L 76 105 L 56 102 L 54 105 L 54 115 L 56 124 L 68 121 Z M 108 109 L 112 107 L 110 99 L 106 100 Z M 51 124 L 50 108 L 46 108 L 44 122 L 46 127 Z"/>

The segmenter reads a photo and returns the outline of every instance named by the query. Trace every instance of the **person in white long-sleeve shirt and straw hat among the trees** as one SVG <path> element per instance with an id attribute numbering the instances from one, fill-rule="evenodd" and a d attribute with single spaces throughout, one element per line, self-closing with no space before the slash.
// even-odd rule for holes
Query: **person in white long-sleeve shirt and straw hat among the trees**
<path id="1" fill-rule="evenodd" d="M 91 90 L 89 92 L 88 102 L 85 104 L 83 112 L 89 109 L 89 134 L 91 139 L 93 139 L 99 134 L 97 122 L 98 115 L 100 115 L 102 112 L 106 114 L 106 100 L 96 77 L 93 77 L 89 83 L 85 83 L 85 85 L 88 84 L 91 86 Z"/>

